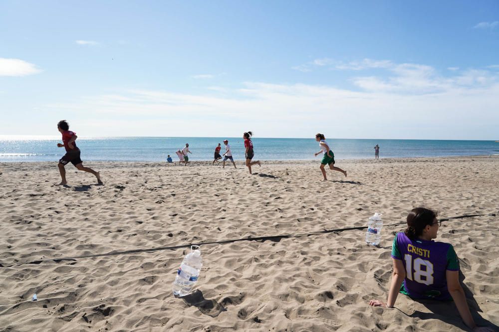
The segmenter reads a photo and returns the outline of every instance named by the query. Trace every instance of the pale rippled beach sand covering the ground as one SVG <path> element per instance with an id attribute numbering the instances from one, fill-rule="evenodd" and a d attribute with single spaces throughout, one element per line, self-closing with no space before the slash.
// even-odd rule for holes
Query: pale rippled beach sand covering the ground
<path id="1" fill-rule="evenodd" d="M 328 182 L 319 160 L 252 176 L 242 162 L 84 164 L 103 186 L 71 165 L 62 187 L 56 162 L 0 164 L 0 331 L 461 331 L 452 302 L 367 305 L 386 300 L 394 234 L 418 206 L 485 215 L 444 221 L 437 240 L 456 249 L 477 323 L 499 325 L 499 156 L 338 160 L 348 178 Z M 380 247 L 364 229 L 201 245 L 185 299 L 172 282 L 189 249 L 154 249 L 362 227 L 375 212 Z"/>

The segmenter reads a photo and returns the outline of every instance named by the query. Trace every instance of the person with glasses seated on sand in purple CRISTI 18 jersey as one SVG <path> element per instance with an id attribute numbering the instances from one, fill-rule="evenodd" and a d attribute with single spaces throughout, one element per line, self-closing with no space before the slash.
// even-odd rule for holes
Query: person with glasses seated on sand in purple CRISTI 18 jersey
<path id="1" fill-rule="evenodd" d="M 398 293 L 413 299 L 453 299 L 464 323 L 474 331 L 479 328 L 471 316 L 465 293 L 459 282 L 459 261 L 452 244 L 435 242 L 441 221 L 437 213 L 416 208 L 407 216 L 407 229 L 393 239 L 392 284 L 386 303 L 369 301 L 373 307 L 393 308 Z"/>

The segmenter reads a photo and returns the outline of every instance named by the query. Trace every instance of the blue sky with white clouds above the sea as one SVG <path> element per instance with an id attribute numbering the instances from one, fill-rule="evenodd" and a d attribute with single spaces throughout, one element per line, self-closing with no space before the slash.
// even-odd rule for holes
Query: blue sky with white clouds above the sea
<path id="1" fill-rule="evenodd" d="M 0 1 L 0 135 L 499 139 L 499 1 Z"/>

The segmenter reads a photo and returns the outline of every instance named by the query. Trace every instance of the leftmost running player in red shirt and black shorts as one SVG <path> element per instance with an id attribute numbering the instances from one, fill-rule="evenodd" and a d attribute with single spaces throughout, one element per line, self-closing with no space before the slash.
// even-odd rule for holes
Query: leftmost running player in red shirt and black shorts
<path id="1" fill-rule="evenodd" d="M 74 142 L 78 136 L 76 136 L 75 132 L 69 131 L 69 124 L 66 122 L 66 120 L 61 120 L 59 123 L 57 123 L 57 129 L 59 132 L 62 134 L 62 143 L 57 143 L 57 147 L 64 147 L 66 149 L 66 154 L 59 159 L 59 172 L 61 173 L 61 178 L 62 181 L 59 183 L 59 185 L 66 185 L 66 169 L 64 166 L 66 166 L 67 163 L 71 163 L 79 169 L 80 171 L 92 173 L 95 175 L 97 178 L 97 183 L 102 184 L 102 181 L 100 180 L 100 174 L 99 172 L 94 171 L 91 168 L 84 167 L 83 162 L 80 159 L 80 149 L 76 146 L 76 143 Z"/>

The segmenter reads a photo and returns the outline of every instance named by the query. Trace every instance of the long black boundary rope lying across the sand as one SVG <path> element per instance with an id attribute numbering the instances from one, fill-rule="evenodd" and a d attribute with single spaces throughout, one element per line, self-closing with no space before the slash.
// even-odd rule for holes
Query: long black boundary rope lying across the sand
<path id="1" fill-rule="evenodd" d="M 474 218 L 474 217 L 483 217 L 483 216 L 496 217 L 496 214 L 491 213 L 491 214 L 485 214 L 485 215 L 464 215 L 464 216 L 457 216 L 457 217 L 442 218 L 439 221 L 449 221 L 451 219 L 464 219 L 464 218 Z M 389 225 L 386 225 L 386 227 L 398 226 L 401 224 L 405 224 L 405 222 L 398 222 L 398 223 L 389 224 Z M 11 265 L 3 265 L 0 263 L 0 267 L 11 267 L 11 266 L 24 265 L 24 264 L 40 264 L 42 262 L 51 261 L 51 260 L 56 262 L 56 263 L 59 263 L 61 261 L 76 261 L 78 258 L 93 258 L 93 257 L 104 257 L 104 256 L 128 255 L 128 254 L 134 254 L 134 253 L 140 253 L 140 252 L 155 252 L 155 251 L 161 251 L 161 250 L 176 250 L 176 249 L 180 249 L 180 248 L 188 248 L 191 245 L 201 246 L 201 245 L 208 245 L 208 244 L 227 244 L 227 243 L 234 243 L 234 242 L 241 242 L 241 241 L 261 241 L 261 242 L 263 242 L 266 240 L 280 240 L 283 238 L 313 236 L 313 235 L 320 235 L 320 234 L 334 233 L 334 232 L 338 233 L 338 232 L 343 232 L 343 231 L 347 231 L 347 230 L 363 230 L 363 229 L 367 229 L 367 226 L 324 229 L 324 230 L 314 231 L 314 232 L 310 232 L 310 233 L 301 233 L 301 234 L 283 234 L 283 235 L 270 235 L 270 236 L 257 236 L 257 237 L 243 237 L 243 238 L 237 238 L 237 239 L 232 239 L 232 240 L 189 243 L 189 244 L 181 244 L 181 245 L 174 245 L 174 246 L 168 246 L 168 247 L 154 247 L 154 248 L 147 248 L 147 249 L 111 251 L 111 252 L 107 252 L 107 253 L 103 253 L 103 254 L 82 255 L 82 256 L 66 257 L 66 258 L 46 258 L 46 259 L 35 260 L 32 262 L 25 262 L 25 263 L 11 264 Z"/>

